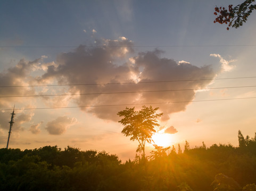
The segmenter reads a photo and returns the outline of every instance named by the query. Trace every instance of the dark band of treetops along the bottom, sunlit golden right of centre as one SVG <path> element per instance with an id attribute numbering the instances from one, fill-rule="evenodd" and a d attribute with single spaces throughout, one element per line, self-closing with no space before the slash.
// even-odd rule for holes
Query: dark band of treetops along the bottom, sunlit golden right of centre
<path id="1" fill-rule="evenodd" d="M 70 146 L 0 149 L 0 190 L 256 190 L 256 134 L 238 132 L 238 142 L 193 149 L 186 142 L 179 153 L 155 146 L 146 161 L 123 163 Z"/>

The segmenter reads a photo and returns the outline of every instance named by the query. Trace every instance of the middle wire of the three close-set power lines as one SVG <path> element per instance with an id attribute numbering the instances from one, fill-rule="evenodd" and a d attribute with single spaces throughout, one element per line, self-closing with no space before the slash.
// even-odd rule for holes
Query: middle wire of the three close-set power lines
<path id="1" fill-rule="evenodd" d="M 67 96 L 67 95 L 98 95 L 98 94 L 150 93 L 150 92 L 152 93 L 152 92 L 168 92 L 168 91 L 214 90 L 214 89 L 253 88 L 253 87 L 256 87 L 256 85 L 219 87 L 219 88 L 202 88 L 202 89 L 149 90 L 149 91 L 130 91 L 130 92 L 71 93 L 71 94 L 46 94 L 46 95 L 10 95 L 10 96 L 0 96 L 0 98 L 51 97 L 51 96 Z"/>

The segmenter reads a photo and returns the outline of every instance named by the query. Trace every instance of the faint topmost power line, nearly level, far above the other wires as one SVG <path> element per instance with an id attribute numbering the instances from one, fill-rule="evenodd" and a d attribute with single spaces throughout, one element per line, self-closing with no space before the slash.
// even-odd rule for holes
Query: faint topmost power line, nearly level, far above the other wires
<path id="1" fill-rule="evenodd" d="M 84 46 L 84 48 L 122 48 L 122 47 L 243 47 L 256 45 L 142 45 L 142 46 Z M 0 48 L 78 48 L 79 46 L 0 46 Z"/>

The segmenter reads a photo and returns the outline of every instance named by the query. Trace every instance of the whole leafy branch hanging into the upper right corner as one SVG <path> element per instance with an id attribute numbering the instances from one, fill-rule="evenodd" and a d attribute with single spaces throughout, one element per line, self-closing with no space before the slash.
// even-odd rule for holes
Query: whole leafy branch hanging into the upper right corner
<path id="1" fill-rule="evenodd" d="M 245 0 L 243 3 L 236 5 L 228 5 L 228 10 L 225 7 L 215 7 L 214 15 L 217 15 L 217 18 L 214 20 L 214 23 L 228 24 L 227 30 L 229 27 L 239 28 L 245 23 L 252 13 L 256 9 L 256 4 L 253 4 L 255 0 Z"/>

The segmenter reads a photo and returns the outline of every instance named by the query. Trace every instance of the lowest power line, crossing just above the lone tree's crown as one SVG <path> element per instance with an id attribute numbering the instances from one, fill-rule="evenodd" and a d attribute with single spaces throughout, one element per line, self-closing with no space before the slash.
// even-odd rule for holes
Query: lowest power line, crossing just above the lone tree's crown
<path id="1" fill-rule="evenodd" d="M 155 105 L 155 104 L 171 104 L 171 103 L 188 103 L 188 102 L 204 102 L 204 101 L 224 101 L 224 100 L 241 100 L 241 99 L 255 99 L 256 97 L 247 98 L 227 98 L 227 99 L 213 99 L 213 100 L 194 100 L 194 101 L 173 101 L 173 102 L 149 102 L 149 103 L 126 103 L 117 105 L 98 105 L 98 106 L 73 106 L 73 107 L 47 107 L 47 108 L 19 108 L 15 110 L 36 110 L 36 109 L 71 109 L 71 108 L 89 108 L 89 107 L 114 107 L 114 106 L 136 106 L 136 105 Z M 12 109 L 0 109 L 0 111 L 9 111 Z"/>

